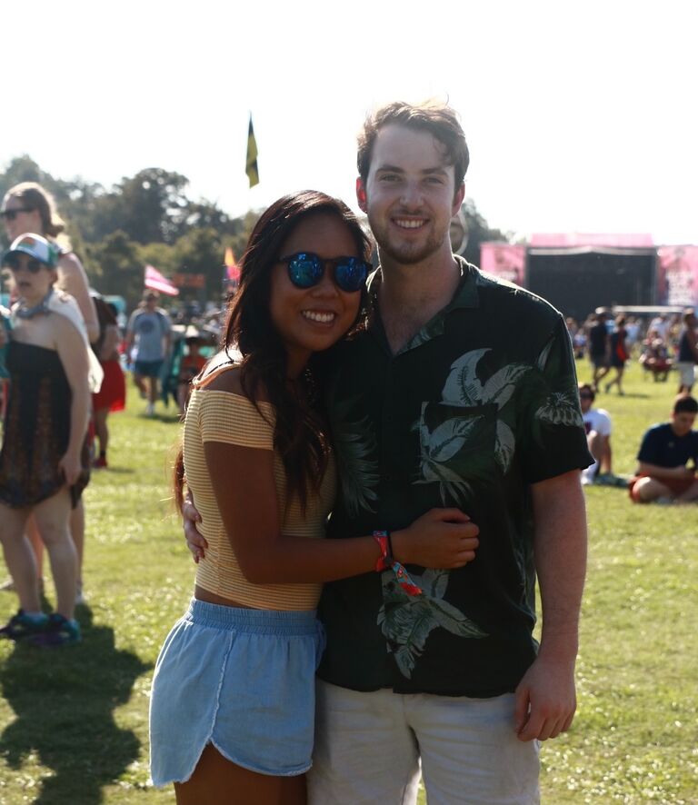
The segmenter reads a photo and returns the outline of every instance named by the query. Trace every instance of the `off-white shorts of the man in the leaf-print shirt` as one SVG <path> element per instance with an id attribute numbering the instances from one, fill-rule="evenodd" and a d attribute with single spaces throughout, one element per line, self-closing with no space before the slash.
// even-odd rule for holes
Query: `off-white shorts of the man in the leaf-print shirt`
<path id="1" fill-rule="evenodd" d="M 539 743 L 494 699 L 361 693 L 318 680 L 308 805 L 537 805 Z"/>

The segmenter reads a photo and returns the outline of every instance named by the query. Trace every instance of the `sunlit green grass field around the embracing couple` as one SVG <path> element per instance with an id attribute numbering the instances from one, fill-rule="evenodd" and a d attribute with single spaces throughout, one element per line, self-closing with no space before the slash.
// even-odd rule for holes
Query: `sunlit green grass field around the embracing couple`
<path id="1" fill-rule="evenodd" d="M 586 364 L 579 372 L 589 378 Z M 633 472 L 639 439 L 667 418 L 674 388 L 635 366 L 626 396 L 599 396 L 613 415 L 615 472 Z M 86 492 L 84 641 L 60 651 L 0 644 L 2 805 L 174 802 L 148 785 L 148 691 L 194 564 L 167 500 L 175 412 L 147 420 L 136 396 L 112 416 L 109 469 Z M 543 802 L 696 803 L 698 506 L 633 506 L 608 487 L 586 494 L 579 711 L 570 733 L 543 746 Z M 0 593 L 0 618 L 15 609 Z"/>

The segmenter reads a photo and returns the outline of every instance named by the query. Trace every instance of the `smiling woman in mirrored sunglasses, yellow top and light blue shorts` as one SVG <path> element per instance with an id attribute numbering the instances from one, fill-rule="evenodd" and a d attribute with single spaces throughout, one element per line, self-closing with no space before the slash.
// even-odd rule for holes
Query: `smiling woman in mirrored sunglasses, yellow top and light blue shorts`
<path id="1" fill-rule="evenodd" d="M 153 780 L 175 782 L 179 805 L 304 803 L 322 581 L 392 568 L 408 589 L 400 562 L 474 558 L 477 529 L 454 509 L 319 539 L 335 492 L 322 367 L 359 318 L 366 255 L 342 202 L 305 191 L 273 204 L 244 253 L 224 353 L 195 384 L 184 469 L 207 548 L 151 699 Z"/>

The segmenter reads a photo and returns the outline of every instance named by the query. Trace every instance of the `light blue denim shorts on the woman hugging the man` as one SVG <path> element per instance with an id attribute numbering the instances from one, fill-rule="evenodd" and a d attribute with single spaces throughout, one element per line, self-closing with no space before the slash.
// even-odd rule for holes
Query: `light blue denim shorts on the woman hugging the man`
<path id="1" fill-rule="evenodd" d="M 155 665 L 154 784 L 188 780 L 207 743 L 261 774 L 308 770 L 315 669 L 323 650 L 314 611 L 247 610 L 192 599 Z"/>

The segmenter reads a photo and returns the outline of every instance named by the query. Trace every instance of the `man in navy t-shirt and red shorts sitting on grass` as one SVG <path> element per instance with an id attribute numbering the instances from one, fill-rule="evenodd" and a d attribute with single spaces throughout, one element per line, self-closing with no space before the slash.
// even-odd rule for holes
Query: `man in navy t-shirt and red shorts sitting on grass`
<path id="1" fill-rule="evenodd" d="M 671 422 L 653 425 L 644 434 L 628 490 L 634 502 L 698 501 L 698 431 L 692 430 L 696 413 L 698 402 L 680 395 L 673 402 Z"/>

